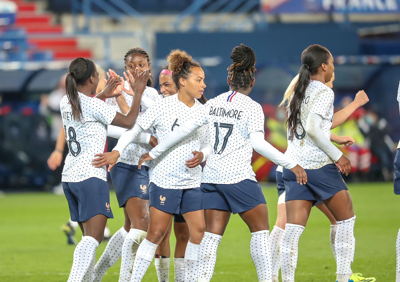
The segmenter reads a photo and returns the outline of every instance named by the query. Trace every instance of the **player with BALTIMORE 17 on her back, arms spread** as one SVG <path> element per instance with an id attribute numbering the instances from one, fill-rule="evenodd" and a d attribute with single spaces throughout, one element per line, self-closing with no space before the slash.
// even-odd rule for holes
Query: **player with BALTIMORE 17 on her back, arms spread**
<path id="1" fill-rule="evenodd" d="M 307 175 L 304 169 L 264 140 L 262 107 L 248 97 L 256 71 L 254 51 L 241 44 L 232 50 L 230 58 L 232 65 L 228 68 L 227 79 L 230 91 L 208 101 L 202 115 L 168 134 L 164 141 L 140 158 L 139 165 L 148 159 L 156 160 L 170 146 L 208 123 L 214 150 L 202 175 L 206 232 L 199 250 L 198 281 L 210 281 L 217 248 L 233 212 L 240 215 L 251 232 L 250 253 L 258 281 L 270 282 L 268 210 L 251 167 L 253 148 L 293 171 L 298 183 L 305 184 Z"/>

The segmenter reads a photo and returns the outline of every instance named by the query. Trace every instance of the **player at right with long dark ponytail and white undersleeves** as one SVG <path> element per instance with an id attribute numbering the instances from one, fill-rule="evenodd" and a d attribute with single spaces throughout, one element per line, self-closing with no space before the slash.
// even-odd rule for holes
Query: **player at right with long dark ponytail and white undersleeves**
<path id="1" fill-rule="evenodd" d="M 332 79 L 333 58 L 328 49 L 311 45 L 302 52 L 303 66 L 289 103 L 288 155 L 307 171 L 308 183 L 300 186 L 292 172 L 283 169 L 286 190 L 285 231 L 280 241 L 282 281 L 294 281 L 298 240 L 313 204 L 322 200 L 337 221 L 335 238 L 338 282 L 350 281 L 354 257 L 354 211 L 346 183 L 348 158 L 330 142 L 334 93 L 325 83 Z M 338 165 L 339 169 L 336 167 Z"/>

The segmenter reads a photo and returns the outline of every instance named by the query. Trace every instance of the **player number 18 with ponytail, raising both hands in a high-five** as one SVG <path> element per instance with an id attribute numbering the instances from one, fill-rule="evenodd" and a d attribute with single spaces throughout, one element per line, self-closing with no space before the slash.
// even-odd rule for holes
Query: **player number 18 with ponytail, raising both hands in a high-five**
<path id="1" fill-rule="evenodd" d="M 62 186 L 71 220 L 78 222 L 82 240 L 74 251 L 69 282 L 92 279 L 95 252 L 102 241 L 107 218 L 112 218 L 106 168 L 90 164 L 95 153 L 103 152 L 107 125 L 131 128 L 138 116 L 140 98 L 150 77 L 148 70 L 138 75 L 131 87 L 135 97 L 126 115 L 117 113 L 100 99 L 112 97 L 120 78 L 108 79 L 96 95 L 99 82 L 95 64 L 86 58 L 74 59 L 68 67 L 66 92 L 60 102 L 69 154 L 62 172 Z"/>

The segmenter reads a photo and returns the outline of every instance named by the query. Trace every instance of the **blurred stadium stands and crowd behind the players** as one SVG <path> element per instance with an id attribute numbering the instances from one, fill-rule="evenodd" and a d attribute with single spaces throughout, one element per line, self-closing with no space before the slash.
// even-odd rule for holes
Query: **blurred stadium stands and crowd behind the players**
<path id="1" fill-rule="evenodd" d="M 345 180 L 392 179 L 400 138 L 400 0 L 0 0 L 0 189 L 60 183 L 61 167 L 52 171 L 47 159 L 73 58 L 122 75 L 128 48 L 142 47 L 159 90 L 160 66 L 180 48 L 202 65 L 211 99 L 228 91 L 226 68 L 240 43 L 257 56 L 251 97 L 264 109 L 268 142 L 286 150 L 287 115 L 277 105 L 302 50 L 321 44 L 335 59 L 335 110 L 360 90 L 370 99 L 332 131 L 355 140 L 339 146 L 352 163 Z M 276 165 L 256 152 L 253 169 L 259 181 L 275 180 Z"/>

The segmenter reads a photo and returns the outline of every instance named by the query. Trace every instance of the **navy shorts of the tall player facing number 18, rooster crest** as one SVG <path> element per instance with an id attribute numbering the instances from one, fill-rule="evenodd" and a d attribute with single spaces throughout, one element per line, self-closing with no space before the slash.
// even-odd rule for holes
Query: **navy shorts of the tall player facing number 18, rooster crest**
<path id="1" fill-rule="evenodd" d="M 148 171 L 149 168 L 145 165 L 142 165 L 142 169 L 138 169 L 137 165 L 121 162 L 114 165 L 110 175 L 120 207 L 125 207 L 126 201 L 131 197 L 149 199 L 150 179 Z"/>

